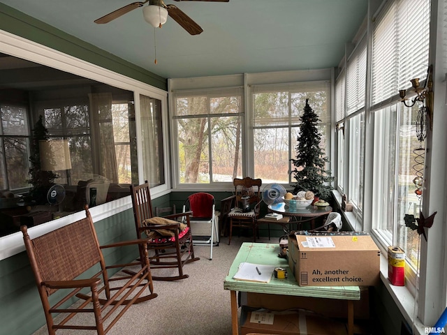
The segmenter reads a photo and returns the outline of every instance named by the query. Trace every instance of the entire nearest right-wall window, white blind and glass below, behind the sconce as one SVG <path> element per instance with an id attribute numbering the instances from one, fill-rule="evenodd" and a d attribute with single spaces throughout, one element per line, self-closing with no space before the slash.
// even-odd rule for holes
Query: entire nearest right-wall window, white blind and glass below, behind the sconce
<path id="1" fill-rule="evenodd" d="M 411 25 L 418 22 L 418 29 Z M 398 90 L 427 76 L 430 1 L 389 1 L 374 20 L 372 36 L 372 112 L 374 112 L 373 228 L 383 247 L 404 249 L 411 282 L 418 269 L 418 237 L 406 228 L 405 214 L 418 216 L 413 183 L 419 147 L 415 124 L 420 105 L 403 107 Z M 414 43 L 417 40 L 418 43 Z M 424 146 L 424 144 L 422 144 Z"/>

